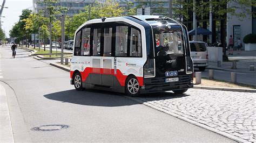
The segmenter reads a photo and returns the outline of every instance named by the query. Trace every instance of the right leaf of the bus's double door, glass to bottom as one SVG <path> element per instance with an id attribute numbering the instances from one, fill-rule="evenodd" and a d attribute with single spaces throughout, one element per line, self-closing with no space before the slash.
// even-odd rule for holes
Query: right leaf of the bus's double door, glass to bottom
<path id="1" fill-rule="evenodd" d="M 104 28 L 102 57 L 102 85 L 113 87 L 112 27 Z"/>

